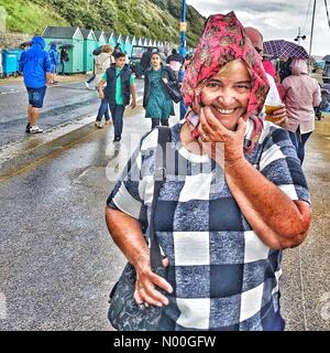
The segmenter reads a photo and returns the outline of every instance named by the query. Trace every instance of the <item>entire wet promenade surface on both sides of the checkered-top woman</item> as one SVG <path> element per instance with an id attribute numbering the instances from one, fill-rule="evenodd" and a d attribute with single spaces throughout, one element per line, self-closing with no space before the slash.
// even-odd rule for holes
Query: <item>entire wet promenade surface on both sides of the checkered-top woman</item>
<path id="1" fill-rule="evenodd" d="M 284 254 L 287 330 L 330 329 L 328 120 L 307 142 L 310 234 Z M 120 149 L 109 126 L 0 183 L 0 330 L 111 330 L 107 299 L 125 260 L 106 228 L 106 199 L 148 128 L 143 113 L 130 114 Z"/>

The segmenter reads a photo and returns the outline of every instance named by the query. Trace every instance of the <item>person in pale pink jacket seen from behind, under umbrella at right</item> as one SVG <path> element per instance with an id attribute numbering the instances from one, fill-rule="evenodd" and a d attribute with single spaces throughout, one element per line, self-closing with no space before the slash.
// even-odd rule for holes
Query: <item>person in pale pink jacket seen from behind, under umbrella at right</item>
<path id="1" fill-rule="evenodd" d="M 321 89 L 316 78 L 308 76 L 306 60 L 294 58 L 289 68 L 292 75 L 282 82 L 283 99 L 288 116 L 286 129 L 302 164 L 305 143 L 315 129 L 314 108 L 322 100 Z"/>

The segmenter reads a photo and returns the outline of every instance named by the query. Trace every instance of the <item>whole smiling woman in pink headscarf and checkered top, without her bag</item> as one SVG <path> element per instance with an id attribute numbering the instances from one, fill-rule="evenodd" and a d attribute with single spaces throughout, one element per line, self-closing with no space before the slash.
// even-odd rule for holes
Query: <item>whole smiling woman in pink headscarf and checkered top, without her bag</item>
<path id="1" fill-rule="evenodd" d="M 108 197 L 108 228 L 136 271 L 136 304 L 162 308 L 155 330 L 284 330 L 282 253 L 305 239 L 310 200 L 287 131 L 258 117 L 267 90 L 234 13 L 211 15 L 183 83 L 190 113 L 170 128 L 172 158 L 153 208 L 165 278 L 152 271 L 142 233 L 157 129 Z"/>

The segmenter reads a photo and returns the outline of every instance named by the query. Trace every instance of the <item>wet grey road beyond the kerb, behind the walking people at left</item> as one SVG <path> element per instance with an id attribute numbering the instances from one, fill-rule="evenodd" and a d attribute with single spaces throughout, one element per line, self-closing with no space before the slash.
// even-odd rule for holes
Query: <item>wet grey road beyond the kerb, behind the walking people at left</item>
<path id="1" fill-rule="evenodd" d="M 37 125 L 44 131 L 96 116 L 100 99 L 97 90 L 85 86 L 89 75 L 58 77 L 59 84 L 50 86 Z M 135 79 L 138 95 L 142 96 L 143 83 Z M 0 83 L 0 150 L 26 139 L 28 94 L 22 78 Z M 29 138 L 29 136 L 28 136 Z"/>

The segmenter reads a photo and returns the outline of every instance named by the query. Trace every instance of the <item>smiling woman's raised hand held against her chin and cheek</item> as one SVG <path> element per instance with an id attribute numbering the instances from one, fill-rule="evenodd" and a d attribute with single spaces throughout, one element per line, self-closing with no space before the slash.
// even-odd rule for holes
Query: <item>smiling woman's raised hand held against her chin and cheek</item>
<path id="1" fill-rule="evenodd" d="M 238 121 L 237 131 L 228 130 L 208 107 L 200 109 L 198 141 L 202 149 L 222 168 L 244 159 L 243 143 L 246 122 L 243 118 Z"/>

